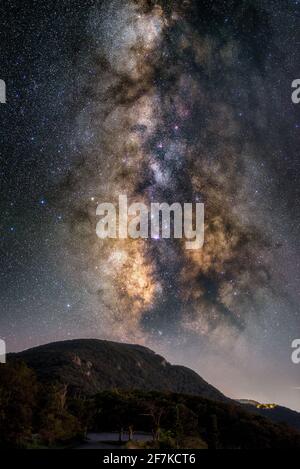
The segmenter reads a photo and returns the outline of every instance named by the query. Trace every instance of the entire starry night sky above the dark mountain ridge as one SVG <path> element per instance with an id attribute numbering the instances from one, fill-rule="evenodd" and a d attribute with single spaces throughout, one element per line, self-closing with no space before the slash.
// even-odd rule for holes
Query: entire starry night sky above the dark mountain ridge
<path id="1" fill-rule="evenodd" d="M 10 351 L 141 343 L 300 410 L 300 1 L 3 1 Z M 99 202 L 204 202 L 205 244 L 100 240 Z"/>

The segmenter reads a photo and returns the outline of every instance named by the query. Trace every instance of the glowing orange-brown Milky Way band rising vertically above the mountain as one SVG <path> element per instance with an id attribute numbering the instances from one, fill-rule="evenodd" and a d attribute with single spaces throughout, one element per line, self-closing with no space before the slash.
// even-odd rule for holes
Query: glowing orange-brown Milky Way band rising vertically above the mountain
<path id="1" fill-rule="evenodd" d="M 263 93 L 263 83 L 252 69 L 241 90 L 234 68 L 241 44 L 210 28 L 197 31 L 192 14 L 188 2 L 170 11 L 113 2 L 91 19 L 95 73 L 81 119 L 91 119 L 97 144 L 68 181 L 68 210 L 71 240 L 84 250 L 83 270 L 99 300 L 101 332 L 117 339 L 212 338 L 220 326 L 223 339 L 231 338 L 259 314 L 268 288 L 262 258 L 272 241 L 251 216 L 244 188 L 247 164 L 259 161 L 251 136 L 257 129 L 247 135 L 237 109 L 257 87 Z M 123 193 L 145 203 L 204 202 L 204 248 L 97 239 L 97 203 Z"/>

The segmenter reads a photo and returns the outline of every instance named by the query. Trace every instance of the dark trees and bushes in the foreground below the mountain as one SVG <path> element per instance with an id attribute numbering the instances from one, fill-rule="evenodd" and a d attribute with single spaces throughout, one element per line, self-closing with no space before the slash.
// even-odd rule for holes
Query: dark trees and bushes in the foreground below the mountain
<path id="1" fill-rule="evenodd" d="M 88 430 L 127 432 L 131 448 L 300 448 L 299 433 L 235 404 L 162 392 L 71 395 L 39 383 L 23 362 L 0 367 L 1 447 L 65 447 Z M 137 430 L 151 441 L 135 442 Z"/>

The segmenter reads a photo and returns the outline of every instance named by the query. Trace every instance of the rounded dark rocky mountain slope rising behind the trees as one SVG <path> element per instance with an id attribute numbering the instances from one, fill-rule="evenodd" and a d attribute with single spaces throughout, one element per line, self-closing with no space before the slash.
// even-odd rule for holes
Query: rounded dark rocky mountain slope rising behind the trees
<path id="1" fill-rule="evenodd" d="M 140 345 L 97 339 L 54 342 L 10 354 L 33 368 L 44 382 L 66 383 L 71 392 L 92 395 L 107 389 L 140 389 L 196 394 L 228 400 L 197 373 L 168 363 Z"/>

